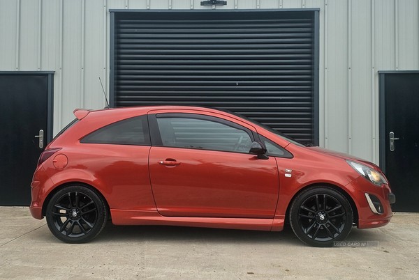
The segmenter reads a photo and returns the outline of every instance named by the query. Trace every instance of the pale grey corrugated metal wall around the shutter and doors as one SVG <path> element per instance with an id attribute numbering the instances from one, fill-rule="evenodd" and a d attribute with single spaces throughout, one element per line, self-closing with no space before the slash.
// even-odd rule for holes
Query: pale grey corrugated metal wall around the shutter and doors
<path id="1" fill-rule="evenodd" d="M 419 70 L 418 0 L 228 0 L 216 9 L 320 8 L 320 145 L 378 163 L 378 70 Z M 109 9 L 200 0 L 1 0 L 0 70 L 54 70 L 54 134 L 105 106 Z"/>

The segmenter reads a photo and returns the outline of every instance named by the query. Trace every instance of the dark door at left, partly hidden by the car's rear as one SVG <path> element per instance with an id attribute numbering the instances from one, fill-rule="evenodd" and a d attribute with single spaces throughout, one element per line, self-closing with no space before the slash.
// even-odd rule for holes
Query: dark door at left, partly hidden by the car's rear
<path id="1" fill-rule="evenodd" d="M 0 72 L 0 205 L 31 203 L 31 178 L 52 137 L 52 77 Z"/>

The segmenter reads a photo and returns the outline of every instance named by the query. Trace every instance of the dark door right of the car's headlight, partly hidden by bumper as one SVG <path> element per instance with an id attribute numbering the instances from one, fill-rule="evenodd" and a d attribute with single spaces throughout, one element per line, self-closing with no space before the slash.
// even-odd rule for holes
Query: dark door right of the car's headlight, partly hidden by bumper
<path id="1" fill-rule="evenodd" d="M 419 212 L 419 72 L 380 72 L 381 166 L 395 211 Z"/>

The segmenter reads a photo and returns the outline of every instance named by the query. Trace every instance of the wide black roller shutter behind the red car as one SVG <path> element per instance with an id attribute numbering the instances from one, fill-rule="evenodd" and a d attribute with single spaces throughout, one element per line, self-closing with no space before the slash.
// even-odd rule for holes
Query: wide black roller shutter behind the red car
<path id="1" fill-rule="evenodd" d="M 314 11 L 113 13 L 116 107 L 216 107 L 315 143 Z"/>

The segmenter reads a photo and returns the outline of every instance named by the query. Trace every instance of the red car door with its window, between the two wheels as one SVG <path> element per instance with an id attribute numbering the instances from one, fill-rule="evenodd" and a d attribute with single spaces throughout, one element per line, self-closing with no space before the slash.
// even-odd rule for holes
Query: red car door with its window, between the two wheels
<path id="1" fill-rule="evenodd" d="M 149 172 L 161 215 L 274 217 L 277 164 L 247 153 L 249 129 L 195 114 L 154 116 L 161 139 L 150 150 Z"/>

